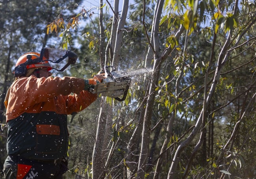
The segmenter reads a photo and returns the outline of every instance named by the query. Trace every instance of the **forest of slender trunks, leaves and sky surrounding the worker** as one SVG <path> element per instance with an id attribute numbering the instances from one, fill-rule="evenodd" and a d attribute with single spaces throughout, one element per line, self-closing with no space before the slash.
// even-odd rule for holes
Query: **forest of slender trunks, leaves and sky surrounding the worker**
<path id="1" fill-rule="evenodd" d="M 20 55 L 48 47 L 79 56 L 54 76 L 152 68 L 132 78 L 125 101 L 100 95 L 69 116 L 65 178 L 254 178 L 256 2 L 88 3 L 0 1 L 0 169 L 12 70 Z"/>

